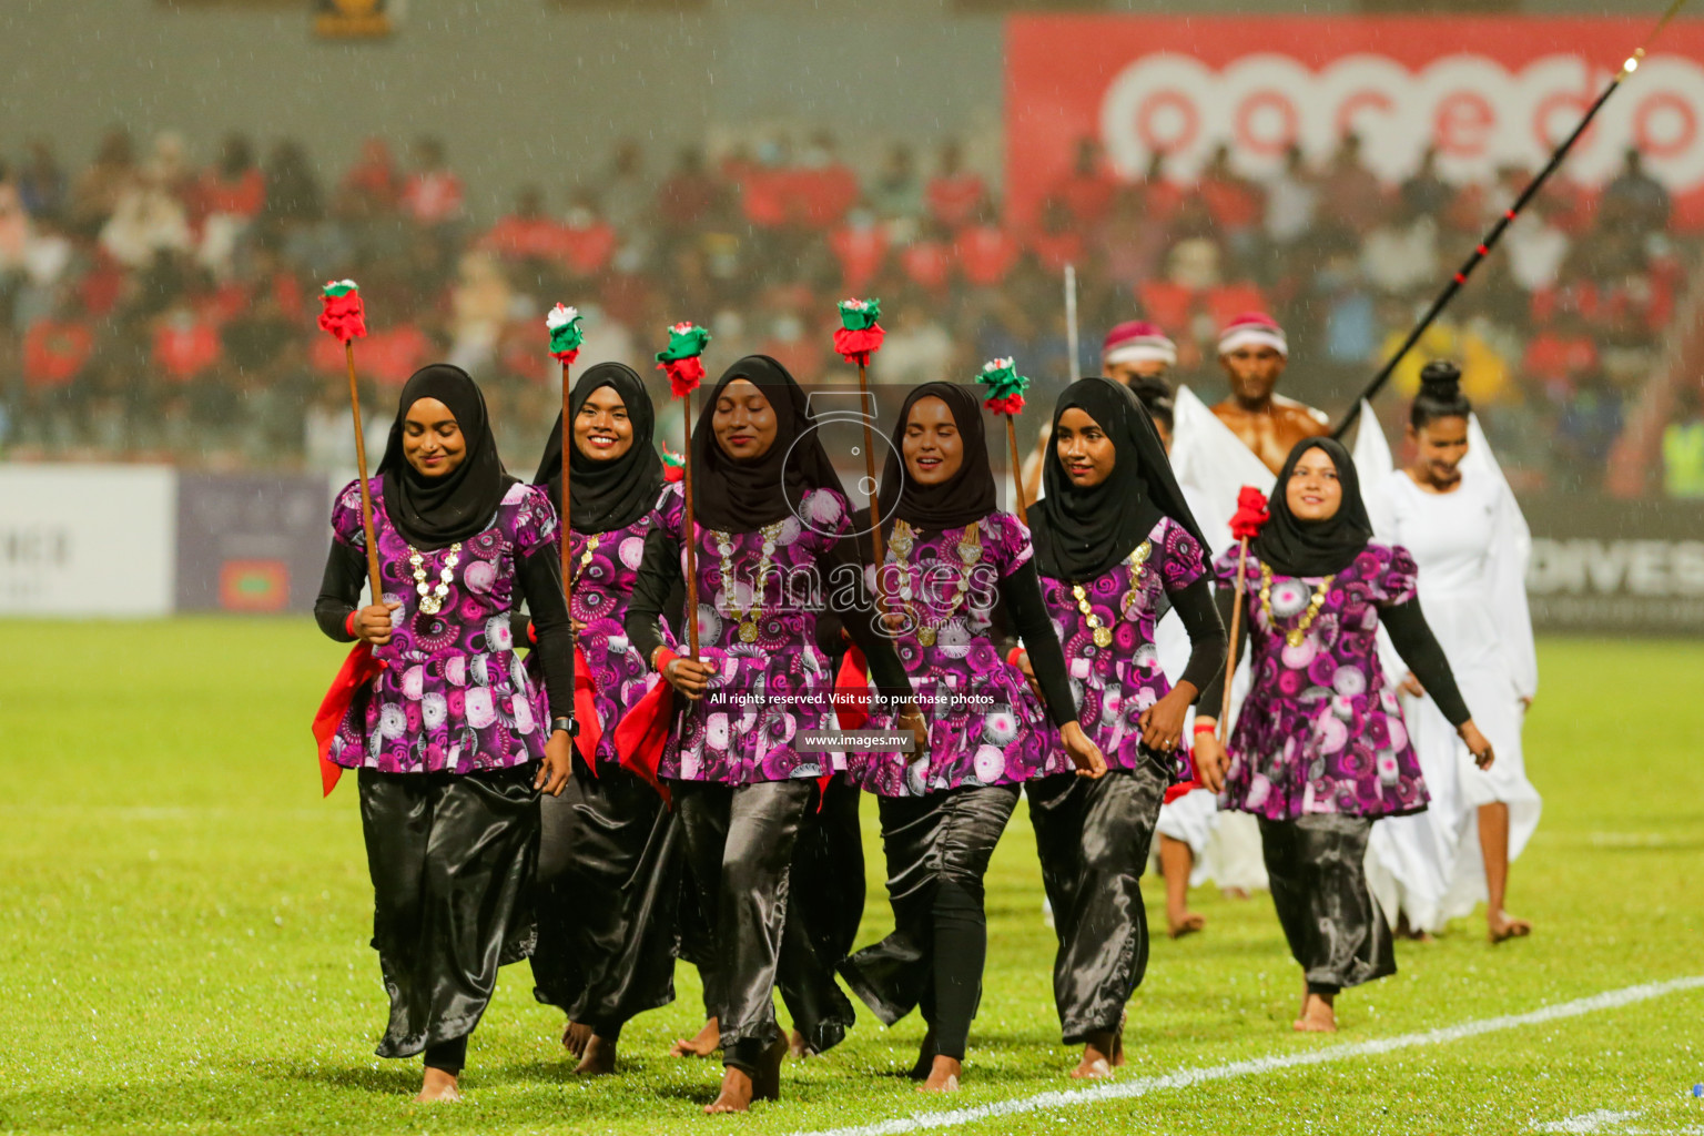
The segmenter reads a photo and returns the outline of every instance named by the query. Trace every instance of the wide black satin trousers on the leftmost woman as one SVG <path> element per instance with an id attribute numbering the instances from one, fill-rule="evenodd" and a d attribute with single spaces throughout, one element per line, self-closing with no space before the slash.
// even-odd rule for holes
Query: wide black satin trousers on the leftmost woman
<path id="1" fill-rule="evenodd" d="M 360 772 L 373 949 L 390 995 L 380 1058 L 474 1032 L 498 967 L 533 949 L 538 765 L 489 773 Z"/>

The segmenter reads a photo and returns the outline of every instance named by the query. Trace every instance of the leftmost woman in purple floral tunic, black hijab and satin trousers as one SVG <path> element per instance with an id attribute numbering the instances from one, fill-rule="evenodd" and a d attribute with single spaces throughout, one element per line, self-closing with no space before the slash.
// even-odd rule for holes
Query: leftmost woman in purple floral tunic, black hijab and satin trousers
<path id="1" fill-rule="evenodd" d="M 421 1100 L 457 1075 L 498 981 L 532 950 L 525 911 L 538 790 L 569 777 L 574 647 L 544 491 L 503 472 L 486 400 L 436 364 L 402 388 L 373 485 L 385 594 L 361 608 L 360 485 L 332 511 L 314 615 L 385 664 L 349 703 L 329 760 L 360 770 L 373 947 L 390 991 L 382 1058 L 426 1054 Z M 509 611 L 538 625 L 544 693 L 513 651 Z"/>

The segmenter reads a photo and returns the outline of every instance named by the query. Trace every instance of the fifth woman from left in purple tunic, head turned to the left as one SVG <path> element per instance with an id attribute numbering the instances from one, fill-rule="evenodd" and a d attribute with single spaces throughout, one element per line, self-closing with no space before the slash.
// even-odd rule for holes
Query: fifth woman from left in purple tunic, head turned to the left
<path id="1" fill-rule="evenodd" d="M 1225 666 L 1225 628 L 1201 531 L 1130 388 L 1072 383 L 1051 439 L 1046 497 L 1029 509 L 1036 565 L 1077 714 L 1108 775 L 1043 777 L 1024 794 L 1060 940 L 1053 1000 L 1065 1042 L 1084 1047 L 1072 1076 L 1097 1078 L 1123 1063 L 1125 1003 L 1148 961 L 1142 872 L 1166 790 L 1188 777 L 1184 717 Z M 1167 605 L 1189 634 L 1177 686 L 1154 644 Z"/>

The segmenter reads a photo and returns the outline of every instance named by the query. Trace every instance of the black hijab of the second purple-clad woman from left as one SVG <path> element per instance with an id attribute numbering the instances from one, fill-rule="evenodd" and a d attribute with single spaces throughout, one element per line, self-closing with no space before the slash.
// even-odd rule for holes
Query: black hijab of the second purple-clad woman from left
<path id="1" fill-rule="evenodd" d="M 634 445 L 619 458 L 595 462 L 574 446 L 567 451 L 567 491 L 573 497 L 566 514 L 571 528 L 581 533 L 608 533 L 627 528 L 653 506 L 663 492 L 663 458 L 658 456 L 651 436 L 656 410 L 646 393 L 639 371 L 625 363 L 598 363 L 588 368 L 567 400 L 569 414 L 579 417 L 579 409 L 593 392 L 610 387 L 627 407 L 627 421 L 634 427 Z M 562 508 L 562 416 L 556 416 L 556 429 L 544 445 L 535 485 L 550 487 L 550 501 Z"/>

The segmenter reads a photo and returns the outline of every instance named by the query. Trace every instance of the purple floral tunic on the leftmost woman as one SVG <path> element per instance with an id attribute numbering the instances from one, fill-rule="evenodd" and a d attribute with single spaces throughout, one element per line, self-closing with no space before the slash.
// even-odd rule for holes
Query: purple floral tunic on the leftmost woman
<path id="1" fill-rule="evenodd" d="M 462 542 L 443 606 L 429 615 L 419 606 L 409 543 L 385 513 L 383 484 L 370 484 L 385 600 L 402 606 L 390 615 L 390 642 L 373 651 L 385 669 L 349 703 L 331 760 L 382 773 L 474 773 L 542 760 L 550 712 L 515 654 L 509 611 L 516 564 L 557 538 L 549 494 L 509 487 L 491 528 Z M 331 525 L 336 540 L 366 555 L 354 482 L 337 494 Z M 423 554 L 429 584 L 450 557 L 450 548 Z"/>

